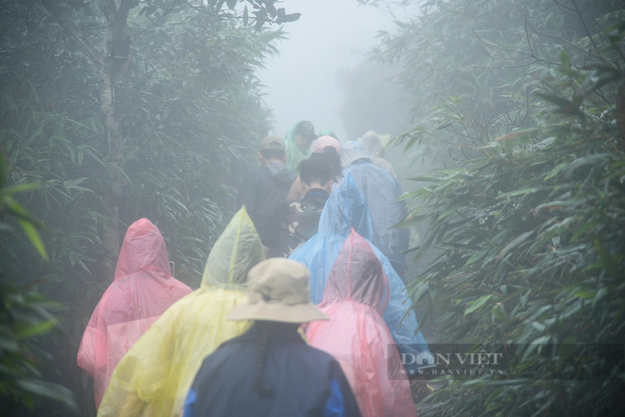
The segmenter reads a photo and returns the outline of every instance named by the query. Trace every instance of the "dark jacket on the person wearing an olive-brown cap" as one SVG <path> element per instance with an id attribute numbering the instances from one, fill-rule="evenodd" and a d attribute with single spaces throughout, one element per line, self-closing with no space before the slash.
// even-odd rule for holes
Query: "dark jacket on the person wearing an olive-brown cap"
<path id="1" fill-rule="evenodd" d="M 284 168 L 284 164 L 272 162 L 262 168 L 249 171 L 243 179 L 237 197 L 237 209 L 245 204 L 247 214 L 254 222 L 256 231 L 265 246 L 269 246 L 267 244 L 269 219 L 277 207 L 284 203 L 296 178 L 297 174 Z"/>

